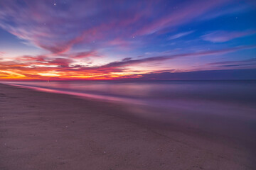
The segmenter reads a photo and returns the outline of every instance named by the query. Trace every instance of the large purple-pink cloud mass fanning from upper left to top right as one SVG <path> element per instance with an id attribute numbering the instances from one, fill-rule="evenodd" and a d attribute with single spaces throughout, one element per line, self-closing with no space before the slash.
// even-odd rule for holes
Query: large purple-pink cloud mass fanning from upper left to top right
<path id="1" fill-rule="evenodd" d="M 229 1 L 0 1 L 0 27 L 61 55 L 75 45 L 127 47 L 134 36 L 191 22 Z"/>

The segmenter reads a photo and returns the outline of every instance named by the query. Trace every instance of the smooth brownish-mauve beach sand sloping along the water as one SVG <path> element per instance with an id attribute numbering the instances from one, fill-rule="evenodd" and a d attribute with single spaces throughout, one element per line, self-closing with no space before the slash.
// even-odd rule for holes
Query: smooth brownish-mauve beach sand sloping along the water
<path id="1" fill-rule="evenodd" d="M 128 112 L 122 104 L 0 84 L 0 169 L 256 168 L 250 146 Z"/>

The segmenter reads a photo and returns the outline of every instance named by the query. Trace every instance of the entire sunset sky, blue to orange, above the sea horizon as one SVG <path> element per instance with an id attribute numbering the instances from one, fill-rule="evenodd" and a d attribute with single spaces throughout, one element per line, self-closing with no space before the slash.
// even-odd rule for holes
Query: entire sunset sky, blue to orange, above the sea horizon
<path id="1" fill-rule="evenodd" d="M 1 0 L 0 79 L 256 79 L 255 21 L 254 0 Z"/>

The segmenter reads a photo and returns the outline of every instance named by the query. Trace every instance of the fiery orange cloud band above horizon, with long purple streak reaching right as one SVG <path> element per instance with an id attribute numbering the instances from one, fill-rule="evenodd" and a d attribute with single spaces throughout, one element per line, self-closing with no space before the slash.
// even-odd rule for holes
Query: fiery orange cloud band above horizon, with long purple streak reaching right
<path id="1" fill-rule="evenodd" d="M 17 59 L 13 61 L 1 62 L 0 70 L 12 72 L 12 74 L 20 74 L 23 75 L 23 77 L 27 78 L 35 78 L 35 75 L 56 75 L 56 73 L 58 73 L 58 77 L 62 77 L 63 79 L 67 79 L 67 77 L 110 78 L 115 73 L 126 74 L 126 67 L 135 66 L 138 64 L 161 62 L 166 60 L 172 60 L 179 57 L 222 55 L 228 52 L 235 52 L 237 50 L 245 50 L 255 47 L 256 46 L 240 46 L 221 50 L 207 50 L 201 52 L 181 53 L 175 55 L 160 55 L 154 57 L 139 58 L 137 60 L 132 60 L 131 57 L 127 57 L 121 61 L 110 62 L 108 64 L 103 64 L 101 66 L 95 67 L 85 67 L 80 64 L 73 64 L 74 60 L 72 57 L 48 57 L 47 55 L 38 55 L 34 57 L 21 56 L 17 57 Z M 85 55 L 89 55 L 89 53 L 90 52 L 86 52 Z M 218 65 L 228 63 L 233 64 L 235 62 L 221 62 L 211 64 Z M 133 74 L 129 74 L 129 76 L 136 76 L 137 74 L 139 75 L 139 72 L 134 72 Z M 33 75 L 33 77 L 28 77 L 28 75 Z M 121 76 L 122 75 L 119 75 L 119 77 Z M 38 77 L 38 79 L 41 79 L 41 77 Z"/>

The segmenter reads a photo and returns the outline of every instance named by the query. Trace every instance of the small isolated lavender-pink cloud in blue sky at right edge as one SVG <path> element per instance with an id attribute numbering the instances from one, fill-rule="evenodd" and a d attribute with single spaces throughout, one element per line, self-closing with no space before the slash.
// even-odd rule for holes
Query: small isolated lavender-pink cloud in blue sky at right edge
<path id="1" fill-rule="evenodd" d="M 227 42 L 229 40 L 233 40 L 235 38 L 241 38 L 246 35 L 252 35 L 255 34 L 255 30 L 246 30 L 242 32 L 234 31 L 234 32 L 228 32 L 224 30 L 218 30 L 214 31 L 213 33 L 208 33 L 206 35 L 203 35 L 203 40 L 210 41 L 210 42 Z"/>

